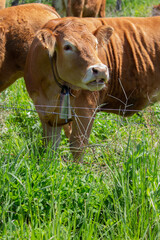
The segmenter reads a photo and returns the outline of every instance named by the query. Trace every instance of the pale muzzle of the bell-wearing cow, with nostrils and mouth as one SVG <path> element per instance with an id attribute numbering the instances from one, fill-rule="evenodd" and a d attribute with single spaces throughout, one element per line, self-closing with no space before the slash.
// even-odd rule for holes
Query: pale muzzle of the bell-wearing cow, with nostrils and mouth
<path id="1" fill-rule="evenodd" d="M 103 63 L 95 64 L 87 69 L 82 82 L 91 91 L 101 90 L 109 80 L 108 67 Z"/>

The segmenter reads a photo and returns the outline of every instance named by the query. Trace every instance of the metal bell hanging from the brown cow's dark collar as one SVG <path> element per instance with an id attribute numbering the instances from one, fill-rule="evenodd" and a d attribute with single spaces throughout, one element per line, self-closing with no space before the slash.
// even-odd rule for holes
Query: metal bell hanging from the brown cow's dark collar
<path id="1" fill-rule="evenodd" d="M 60 119 L 72 118 L 71 105 L 70 105 L 70 89 L 67 86 L 63 86 L 60 95 Z"/>

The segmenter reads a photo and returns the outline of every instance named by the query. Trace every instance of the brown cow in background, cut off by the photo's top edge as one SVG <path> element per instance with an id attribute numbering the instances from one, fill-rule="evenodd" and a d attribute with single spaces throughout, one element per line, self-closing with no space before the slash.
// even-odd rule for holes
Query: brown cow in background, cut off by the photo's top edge
<path id="1" fill-rule="evenodd" d="M 53 0 L 60 15 L 75 17 L 105 17 L 106 0 Z"/>

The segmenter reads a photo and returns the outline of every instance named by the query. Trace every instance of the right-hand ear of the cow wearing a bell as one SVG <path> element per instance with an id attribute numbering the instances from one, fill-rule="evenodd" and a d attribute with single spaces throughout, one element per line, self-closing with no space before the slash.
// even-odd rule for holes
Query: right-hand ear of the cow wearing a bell
<path id="1" fill-rule="evenodd" d="M 98 39 L 98 43 L 100 45 L 103 45 L 108 42 L 108 40 L 112 36 L 113 31 L 114 31 L 114 29 L 112 27 L 101 26 L 101 27 L 97 28 L 93 34 Z"/>

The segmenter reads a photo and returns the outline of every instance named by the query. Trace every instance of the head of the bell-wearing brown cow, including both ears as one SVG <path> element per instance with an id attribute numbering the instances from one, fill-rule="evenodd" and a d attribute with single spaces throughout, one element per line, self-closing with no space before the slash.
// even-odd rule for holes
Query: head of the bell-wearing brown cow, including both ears
<path id="1" fill-rule="evenodd" d="M 103 40 L 108 41 L 112 31 L 110 27 L 103 27 L 98 38 L 102 38 L 103 32 Z M 72 21 L 50 21 L 37 34 L 50 57 L 54 59 L 58 78 L 90 91 L 101 90 L 109 78 L 108 67 L 98 58 L 100 40 L 96 36 L 74 18 Z"/>

